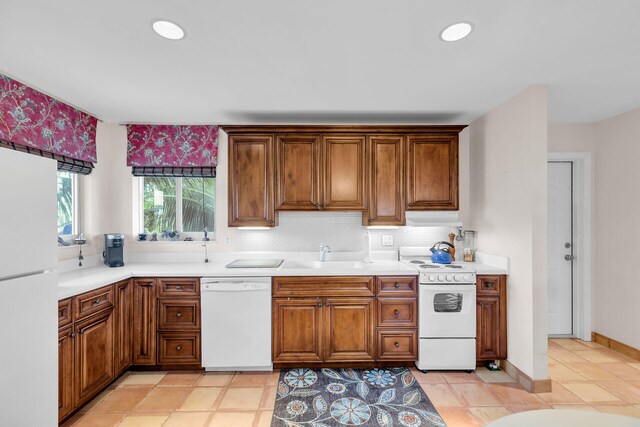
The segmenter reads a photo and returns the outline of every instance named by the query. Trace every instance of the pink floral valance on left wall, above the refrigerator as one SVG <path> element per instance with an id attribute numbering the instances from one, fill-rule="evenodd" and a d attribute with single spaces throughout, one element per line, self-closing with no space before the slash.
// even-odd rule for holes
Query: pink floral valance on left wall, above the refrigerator
<path id="1" fill-rule="evenodd" d="M 92 167 L 97 123 L 95 117 L 0 74 L 4 146 Z"/>

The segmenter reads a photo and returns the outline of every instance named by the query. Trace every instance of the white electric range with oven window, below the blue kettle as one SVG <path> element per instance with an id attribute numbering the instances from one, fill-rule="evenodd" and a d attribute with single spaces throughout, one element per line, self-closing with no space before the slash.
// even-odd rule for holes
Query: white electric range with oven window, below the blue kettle
<path id="1" fill-rule="evenodd" d="M 434 264 L 429 248 L 400 248 L 400 261 L 419 272 L 418 361 L 427 370 L 476 367 L 476 273 L 460 264 Z"/>

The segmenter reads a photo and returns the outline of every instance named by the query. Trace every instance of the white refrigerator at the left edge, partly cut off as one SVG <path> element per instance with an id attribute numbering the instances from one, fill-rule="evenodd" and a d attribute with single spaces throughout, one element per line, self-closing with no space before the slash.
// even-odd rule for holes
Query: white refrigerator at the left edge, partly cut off
<path id="1" fill-rule="evenodd" d="M 0 426 L 58 424 L 56 169 L 0 148 Z"/>

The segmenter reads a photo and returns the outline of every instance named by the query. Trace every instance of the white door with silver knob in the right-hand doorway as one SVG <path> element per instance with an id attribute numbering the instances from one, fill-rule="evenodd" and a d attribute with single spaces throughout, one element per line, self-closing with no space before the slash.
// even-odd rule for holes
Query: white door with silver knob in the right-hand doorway
<path id="1" fill-rule="evenodd" d="M 572 162 L 548 168 L 548 333 L 573 335 Z"/>

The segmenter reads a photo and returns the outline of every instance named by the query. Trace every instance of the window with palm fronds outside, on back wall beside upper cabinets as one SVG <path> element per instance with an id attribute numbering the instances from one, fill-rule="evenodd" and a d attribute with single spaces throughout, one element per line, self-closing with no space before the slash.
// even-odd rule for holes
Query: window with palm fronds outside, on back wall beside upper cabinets
<path id="1" fill-rule="evenodd" d="M 215 178 L 141 178 L 141 226 L 145 233 L 177 231 L 200 240 L 215 230 Z"/>

